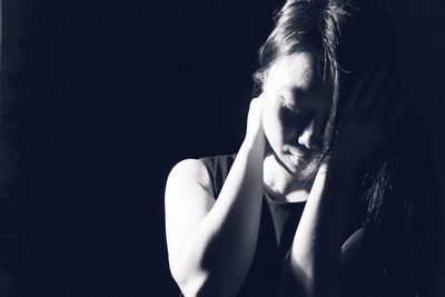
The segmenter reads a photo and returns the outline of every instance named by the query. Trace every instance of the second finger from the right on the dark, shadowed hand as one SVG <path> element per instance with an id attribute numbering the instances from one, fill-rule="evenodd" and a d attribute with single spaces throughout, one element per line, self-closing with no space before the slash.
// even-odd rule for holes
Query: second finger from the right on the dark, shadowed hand
<path id="1" fill-rule="evenodd" d="M 378 92 L 378 89 L 380 88 L 387 69 L 387 65 L 378 67 L 372 72 L 368 80 L 363 86 L 359 98 L 356 102 L 356 106 L 354 107 L 354 110 L 355 112 L 357 112 L 358 116 L 369 116 L 369 108 L 373 105 L 373 101 L 375 101 L 376 99 L 378 100 L 378 98 L 376 98 L 376 95 Z"/>

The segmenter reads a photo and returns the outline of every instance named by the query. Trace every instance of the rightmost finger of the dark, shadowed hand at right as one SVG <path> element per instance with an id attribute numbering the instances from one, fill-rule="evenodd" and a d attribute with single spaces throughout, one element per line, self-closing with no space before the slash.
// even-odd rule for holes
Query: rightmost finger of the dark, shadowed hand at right
<path id="1" fill-rule="evenodd" d="M 369 108 L 370 118 L 382 119 L 392 101 L 397 100 L 394 98 L 397 83 L 396 71 L 394 69 L 388 70 L 380 83 L 380 88 L 377 91 L 376 98 Z"/>

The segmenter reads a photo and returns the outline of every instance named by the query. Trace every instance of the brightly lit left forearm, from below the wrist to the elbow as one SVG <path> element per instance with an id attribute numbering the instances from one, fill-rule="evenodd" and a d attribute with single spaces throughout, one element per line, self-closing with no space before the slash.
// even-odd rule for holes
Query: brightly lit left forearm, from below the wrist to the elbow
<path id="1" fill-rule="evenodd" d="M 263 147 L 241 145 L 215 205 L 179 251 L 178 275 L 190 295 L 235 295 L 249 270 L 261 211 Z"/>

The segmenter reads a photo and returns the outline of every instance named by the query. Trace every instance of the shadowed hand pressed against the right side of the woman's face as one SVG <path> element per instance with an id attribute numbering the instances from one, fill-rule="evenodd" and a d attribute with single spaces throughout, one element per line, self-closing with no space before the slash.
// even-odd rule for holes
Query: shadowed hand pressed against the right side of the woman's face
<path id="1" fill-rule="evenodd" d="M 353 175 L 363 171 L 384 146 L 403 110 L 395 97 L 397 75 L 387 65 L 359 73 L 340 109 L 338 133 L 329 162 L 346 166 Z"/>

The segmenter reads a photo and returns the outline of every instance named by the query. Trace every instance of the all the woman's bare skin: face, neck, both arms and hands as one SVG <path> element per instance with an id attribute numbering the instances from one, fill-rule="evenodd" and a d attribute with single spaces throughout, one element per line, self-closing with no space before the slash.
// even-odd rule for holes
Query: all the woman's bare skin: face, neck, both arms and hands
<path id="1" fill-rule="evenodd" d="M 362 230 L 342 241 L 354 180 L 402 108 L 388 111 L 396 77 L 387 67 L 357 76 L 330 158 L 314 167 L 330 108 L 330 87 L 318 79 L 315 60 L 300 52 L 269 69 L 218 197 L 199 160 L 184 160 L 171 170 L 166 187 L 169 264 L 186 296 L 237 294 L 255 254 L 264 187 L 277 200 L 307 200 L 279 294 L 340 296 L 342 261 L 347 267 L 360 246 Z"/>

